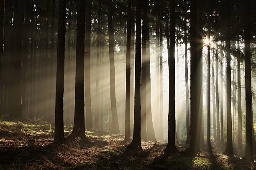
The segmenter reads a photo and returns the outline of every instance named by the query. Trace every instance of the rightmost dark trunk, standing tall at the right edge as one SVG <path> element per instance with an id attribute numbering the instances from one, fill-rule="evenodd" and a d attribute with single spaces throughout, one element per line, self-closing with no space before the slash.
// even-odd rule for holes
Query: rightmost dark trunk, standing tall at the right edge
<path id="1" fill-rule="evenodd" d="M 250 0 L 246 0 L 246 20 L 244 24 L 245 40 L 245 81 L 246 81 L 246 146 L 244 159 L 253 160 L 253 139 L 252 136 L 252 98 L 251 98 L 251 30 L 250 30 Z"/>

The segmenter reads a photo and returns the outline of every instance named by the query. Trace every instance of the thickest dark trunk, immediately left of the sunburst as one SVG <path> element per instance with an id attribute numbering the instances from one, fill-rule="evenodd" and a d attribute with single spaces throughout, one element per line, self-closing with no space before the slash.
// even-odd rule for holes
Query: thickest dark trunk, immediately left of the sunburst
<path id="1" fill-rule="evenodd" d="M 191 123 L 190 123 L 190 146 L 192 152 L 200 150 L 202 144 L 202 26 L 200 25 L 201 15 L 197 10 L 199 1 L 191 1 L 191 32 L 190 32 L 190 53 L 191 53 Z"/>

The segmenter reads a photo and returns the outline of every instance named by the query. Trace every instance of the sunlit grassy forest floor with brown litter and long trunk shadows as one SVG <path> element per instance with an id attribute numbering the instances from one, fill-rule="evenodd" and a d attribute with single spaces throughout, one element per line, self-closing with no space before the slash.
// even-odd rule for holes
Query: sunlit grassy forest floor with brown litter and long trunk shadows
<path id="1" fill-rule="evenodd" d="M 218 150 L 189 153 L 186 145 L 166 153 L 166 143 L 142 142 L 142 151 L 125 147 L 123 135 L 87 131 L 90 144 L 53 145 L 53 127 L 41 122 L 0 121 L 0 170 L 255 170 L 255 163 L 239 155 L 223 155 Z M 65 135 L 72 128 L 65 127 Z"/>

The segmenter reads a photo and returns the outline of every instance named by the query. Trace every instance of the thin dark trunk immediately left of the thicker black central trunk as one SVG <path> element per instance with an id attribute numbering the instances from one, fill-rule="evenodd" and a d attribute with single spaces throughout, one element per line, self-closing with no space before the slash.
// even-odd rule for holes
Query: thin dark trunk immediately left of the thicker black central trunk
<path id="1" fill-rule="evenodd" d="M 126 39 L 126 81 L 125 81 L 125 141 L 131 140 L 131 0 L 127 2 L 127 39 Z"/>

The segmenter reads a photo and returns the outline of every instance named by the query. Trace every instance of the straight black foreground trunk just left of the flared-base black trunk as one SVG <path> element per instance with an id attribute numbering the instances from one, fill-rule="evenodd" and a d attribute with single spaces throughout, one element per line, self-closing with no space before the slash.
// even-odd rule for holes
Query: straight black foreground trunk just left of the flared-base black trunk
<path id="1" fill-rule="evenodd" d="M 63 94 L 64 94 L 64 62 L 65 62 L 65 25 L 66 25 L 66 0 L 59 0 L 59 27 L 57 47 L 56 71 L 56 104 L 55 104 L 55 134 L 54 142 L 64 141 L 63 122 Z"/>

